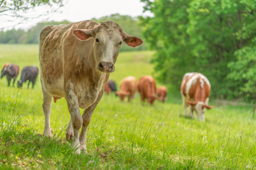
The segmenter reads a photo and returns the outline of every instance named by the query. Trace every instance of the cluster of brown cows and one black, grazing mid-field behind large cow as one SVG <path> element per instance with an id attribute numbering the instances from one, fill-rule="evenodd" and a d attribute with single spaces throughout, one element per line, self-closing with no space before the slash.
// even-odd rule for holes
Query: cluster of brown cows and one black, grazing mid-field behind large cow
<path id="1" fill-rule="evenodd" d="M 123 78 L 120 83 L 120 91 L 116 90 L 115 82 L 113 80 L 108 80 L 104 89 L 107 94 L 111 91 L 115 92 L 115 94 L 120 97 L 121 101 L 123 101 L 125 97 L 128 98 L 128 101 L 131 101 L 131 99 L 134 98 L 136 90 L 140 93 L 141 100 L 144 102 L 146 98 L 150 105 L 153 105 L 156 99 L 162 102 L 166 100 L 167 88 L 165 86 L 159 86 L 156 89 L 156 81 L 150 75 L 142 76 L 138 83 L 133 76 Z M 156 97 L 155 94 L 157 94 L 158 97 Z"/>

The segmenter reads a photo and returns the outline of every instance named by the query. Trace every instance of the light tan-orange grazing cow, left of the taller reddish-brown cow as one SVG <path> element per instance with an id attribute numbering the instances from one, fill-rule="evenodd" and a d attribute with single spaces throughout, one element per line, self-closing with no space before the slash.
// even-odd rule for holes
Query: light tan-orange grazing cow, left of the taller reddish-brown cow
<path id="1" fill-rule="evenodd" d="M 127 96 L 128 102 L 130 102 L 131 99 L 134 97 L 135 92 L 136 78 L 133 76 L 128 76 L 121 80 L 120 91 L 116 91 L 115 94 L 117 94 L 120 97 L 121 101 L 123 101 L 125 96 Z"/>

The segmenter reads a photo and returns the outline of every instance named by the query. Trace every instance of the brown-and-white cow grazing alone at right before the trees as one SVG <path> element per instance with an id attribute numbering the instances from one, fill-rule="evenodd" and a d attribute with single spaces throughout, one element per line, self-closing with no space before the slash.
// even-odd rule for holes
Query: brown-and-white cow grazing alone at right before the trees
<path id="1" fill-rule="evenodd" d="M 205 110 L 213 108 L 208 105 L 211 85 L 207 77 L 198 72 L 188 72 L 183 76 L 181 84 L 181 95 L 184 107 L 184 116 L 187 116 L 187 106 L 189 115 L 193 116 L 196 111 L 197 118 L 205 121 Z"/>

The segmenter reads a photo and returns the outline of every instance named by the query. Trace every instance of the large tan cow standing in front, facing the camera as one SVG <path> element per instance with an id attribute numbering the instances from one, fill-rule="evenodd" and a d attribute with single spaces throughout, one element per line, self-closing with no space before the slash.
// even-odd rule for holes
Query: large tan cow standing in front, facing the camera
<path id="1" fill-rule="evenodd" d="M 100 24 L 85 20 L 68 25 L 50 25 L 39 37 L 40 80 L 45 116 L 44 136 L 51 137 L 51 100 L 67 100 L 70 122 L 66 139 L 79 154 L 86 148 L 86 132 L 100 101 L 122 42 L 136 47 L 143 41 L 126 34 L 113 21 Z M 80 114 L 80 108 L 85 109 Z M 82 127 L 79 137 L 79 130 Z"/>

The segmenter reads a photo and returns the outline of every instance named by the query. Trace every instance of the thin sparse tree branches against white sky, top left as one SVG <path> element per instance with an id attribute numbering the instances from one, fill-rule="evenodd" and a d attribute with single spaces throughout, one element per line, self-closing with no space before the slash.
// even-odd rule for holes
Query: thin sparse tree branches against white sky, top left
<path id="1" fill-rule="evenodd" d="M 63 6 L 64 0 L 0 0 L 0 19 L 12 22 L 19 19 L 19 23 L 26 20 L 46 16 L 56 12 Z M 44 13 L 35 14 L 33 10 L 44 7 Z M 5 27 L 1 26 L 0 29 Z"/>

